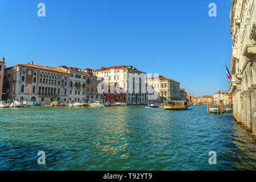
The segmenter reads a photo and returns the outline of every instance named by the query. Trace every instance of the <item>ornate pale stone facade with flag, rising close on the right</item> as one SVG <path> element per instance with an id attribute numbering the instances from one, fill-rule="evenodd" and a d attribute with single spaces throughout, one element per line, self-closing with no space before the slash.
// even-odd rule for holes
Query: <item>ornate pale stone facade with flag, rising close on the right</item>
<path id="1" fill-rule="evenodd" d="M 233 115 L 252 135 L 256 135 L 256 3 L 232 0 L 230 33 L 233 45 L 230 60 Z"/>

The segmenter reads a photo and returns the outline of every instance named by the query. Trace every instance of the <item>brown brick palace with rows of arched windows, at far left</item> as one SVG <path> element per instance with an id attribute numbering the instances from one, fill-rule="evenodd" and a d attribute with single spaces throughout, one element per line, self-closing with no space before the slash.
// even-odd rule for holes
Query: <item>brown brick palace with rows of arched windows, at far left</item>
<path id="1" fill-rule="evenodd" d="M 56 68 L 18 64 L 5 69 L 5 100 L 65 102 L 68 99 L 68 73 Z"/>

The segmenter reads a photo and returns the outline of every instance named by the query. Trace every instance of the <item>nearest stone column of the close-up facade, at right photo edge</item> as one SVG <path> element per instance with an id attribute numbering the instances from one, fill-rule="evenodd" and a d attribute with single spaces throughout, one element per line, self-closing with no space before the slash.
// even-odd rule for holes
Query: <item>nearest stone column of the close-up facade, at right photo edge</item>
<path id="1" fill-rule="evenodd" d="M 256 86 L 250 90 L 251 95 L 251 135 L 256 136 Z"/>

